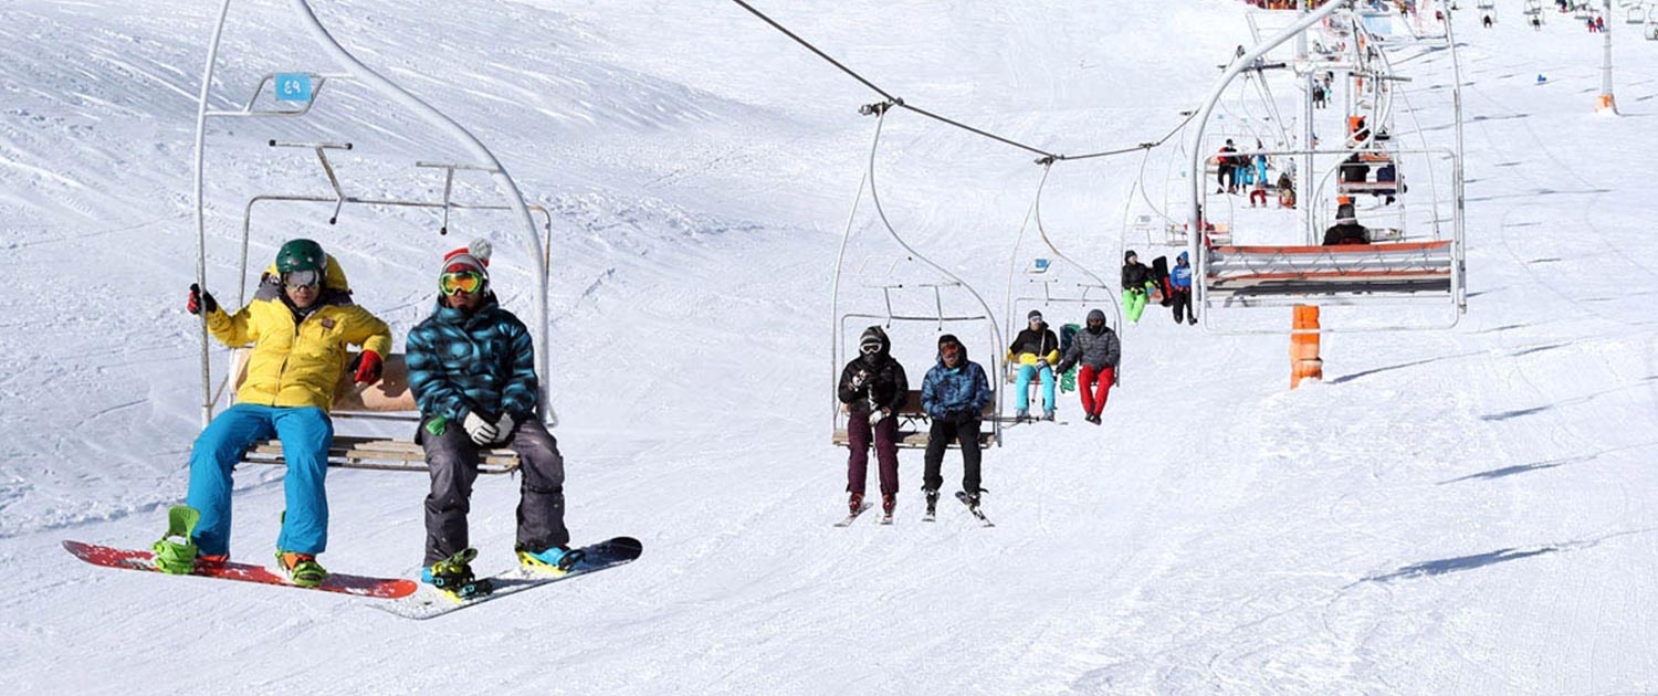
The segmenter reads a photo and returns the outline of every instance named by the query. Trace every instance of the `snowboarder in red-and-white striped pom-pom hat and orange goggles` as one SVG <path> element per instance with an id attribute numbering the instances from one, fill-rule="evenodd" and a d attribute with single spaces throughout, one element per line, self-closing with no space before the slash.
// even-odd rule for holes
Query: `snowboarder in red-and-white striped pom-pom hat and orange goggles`
<path id="1" fill-rule="evenodd" d="M 567 563 L 564 456 L 537 416 L 541 388 L 529 330 L 489 287 L 489 242 L 443 259 L 441 295 L 408 336 L 410 389 L 421 411 L 419 441 L 431 469 L 426 495 L 424 582 L 458 587 L 471 577 L 466 514 L 479 451 L 511 447 L 524 476 L 517 557 L 527 570 Z"/>

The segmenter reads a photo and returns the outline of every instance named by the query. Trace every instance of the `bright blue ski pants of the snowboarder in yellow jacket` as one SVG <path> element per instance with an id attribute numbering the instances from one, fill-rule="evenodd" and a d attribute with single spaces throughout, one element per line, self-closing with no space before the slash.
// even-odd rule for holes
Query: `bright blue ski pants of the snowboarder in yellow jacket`
<path id="1" fill-rule="evenodd" d="M 202 514 L 192 535 L 202 555 L 230 552 L 230 471 L 250 444 L 270 437 L 282 441 L 282 459 L 288 462 L 282 481 L 287 510 L 277 550 L 315 555 L 328 549 L 323 479 L 333 421 L 315 406 L 235 404 L 214 418 L 191 447 L 186 504 Z"/>

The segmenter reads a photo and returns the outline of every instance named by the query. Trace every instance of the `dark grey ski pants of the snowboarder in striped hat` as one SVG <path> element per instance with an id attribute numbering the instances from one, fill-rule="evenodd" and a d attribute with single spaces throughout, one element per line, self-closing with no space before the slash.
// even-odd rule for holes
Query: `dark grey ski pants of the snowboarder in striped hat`
<path id="1" fill-rule="evenodd" d="M 424 428 L 424 426 L 423 426 Z M 471 510 L 478 452 L 466 429 L 449 423 L 441 436 L 421 433 L 431 494 L 426 495 L 426 563 L 466 549 L 466 514 Z M 506 446 L 519 454 L 517 544 L 532 552 L 570 542 L 564 529 L 564 456 L 559 441 L 539 421 L 519 423 Z"/>

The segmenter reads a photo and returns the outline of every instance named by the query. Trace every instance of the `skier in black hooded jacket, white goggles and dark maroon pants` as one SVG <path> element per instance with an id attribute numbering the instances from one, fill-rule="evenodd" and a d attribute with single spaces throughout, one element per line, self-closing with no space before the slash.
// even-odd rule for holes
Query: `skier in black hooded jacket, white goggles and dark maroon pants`
<path id="1" fill-rule="evenodd" d="M 880 464 L 880 510 L 892 514 L 899 495 L 899 419 L 910 381 L 892 358 L 892 340 L 880 326 L 869 326 L 857 340 L 857 358 L 841 370 L 841 409 L 847 413 L 846 434 L 851 454 L 846 462 L 847 502 L 854 514 L 864 507 L 869 479 L 869 444 L 875 441 Z"/>

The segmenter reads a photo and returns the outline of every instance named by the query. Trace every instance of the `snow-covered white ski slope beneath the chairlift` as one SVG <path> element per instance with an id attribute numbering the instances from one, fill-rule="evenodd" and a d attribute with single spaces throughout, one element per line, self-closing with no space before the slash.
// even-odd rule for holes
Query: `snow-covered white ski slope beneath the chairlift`
<path id="1" fill-rule="evenodd" d="M 1459 328 L 1331 336 L 1326 383 L 1290 393 L 1282 338 L 1205 336 L 1152 307 L 1124 335 L 1103 428 L 1013 428 L 987 452 L 996 529 L 955 507 L 922 525 L 917 452 L 895 527 L 831 529 L 846 454 L 826 433 L 829 268 L 874 124 L 856 108 L 875 96 L 725 2 L 318 2 L 348 48 L 471 126 L 555 212 L 569 525 L 645 544 L 627 568 L 411 623 L 56 547 L 149 544 L 184 492 L 206 5 L 0 7 L 0 676 L 20 691 L 1658 689 L 1655 43 L 1618 35 L 1625 116 L 1598 118 L 1598 38 L 1459 17 Z M 761 7 L 915 104 L 1069 152 L 1161 136 L 1247 38 L 1230 0 L 1076 5 Z M 285 8 L 232 22 L 224 103 L 267 71 L 328 68 Z M 1449 80 L 1442 55 L 1418 63 L 1424 89 Z M 441 181 L 413 162 L 453 156 L 345 94 L 303 128 L 212 138 L 221 298 L 235 295 L 240 201 L 327 186 L 308 154 L 265 139 L 350 139 L 345 184 L 380 194 L 431 196 Z M 1000 312 L 1038 167 L 905 113 L 885 143 L 894 224 Z M 1108 277 L 1137 166 L 1061 164 L 1045 194 L 1058 242 Z M 323 215 L 264 220 L 255 262 L 315 235 L 401 346 L 464 237 L 429 217 Z M 524 313 L 524 265 L 502 249 L 497 285 Z M 933 335 L 897 340 L 919 381 Z M 947 459 L 947 481 L 958 471 Z M 257 560 L 280 471 L 237 481 L 234 549 Z M 424 489 L 332 472 L 323 562 L 418 572 Z M 511 562 L 516 489 L 479 481 L 484 568 Z"/>

